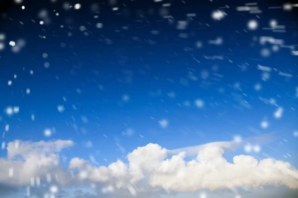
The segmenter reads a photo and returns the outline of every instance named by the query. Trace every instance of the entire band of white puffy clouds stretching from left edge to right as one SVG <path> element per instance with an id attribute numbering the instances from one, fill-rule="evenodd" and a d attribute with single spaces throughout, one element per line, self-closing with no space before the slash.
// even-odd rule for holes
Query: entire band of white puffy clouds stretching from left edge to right
<path id="1" fill-rule="evenodd" d="M 234 156 L 232 163 L 227 162 L 224 151 L 234 147 L 234 142 L 214 142 L 185 151 L 169 151 L 149 143 L 129 153 L 127 162 L 118 160 L 107 167 L 92 166 L 84 159 L 73 158 L 66 170 L 59 166 L 58 152 L 73 144 L 64 140 L 9 142 L 7 159 L 0 158 L 0 183 L 38 186 L 57 180 L 61 185 L 92 184 L 100 194 L 122 197 L 269 185 L 298 189 L 298 170 L 290 163 L 258 161 L 246 155 Z M 193 154 L 194 150 L 196 159 L 185 160 L 187 152 Z"/>

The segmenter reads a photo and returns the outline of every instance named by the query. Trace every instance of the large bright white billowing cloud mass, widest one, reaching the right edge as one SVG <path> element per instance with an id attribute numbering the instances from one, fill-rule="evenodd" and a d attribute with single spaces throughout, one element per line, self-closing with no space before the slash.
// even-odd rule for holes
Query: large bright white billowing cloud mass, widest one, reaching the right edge
<path id="1" fill-rule="evenodd" d="M 106 185 L 104 193 L 126 190 L 132 197 L 160 190 L 187 193 L 269 185 L 298 189 L 298 170 L 290 163 L 272 159 L 258 161 L 246 155 L 234 156 L 232 163 L 227 162 L 223 154 L 233 144 L 201 145 L 197 158 L 186 161 L 185 151 L 169 158 L 169 150 L 149 143 L 129 153 L 128 164 L 118 160 L 108 167 L 88 167 L 81 171 L 87 172 L 84 179 Z"/>

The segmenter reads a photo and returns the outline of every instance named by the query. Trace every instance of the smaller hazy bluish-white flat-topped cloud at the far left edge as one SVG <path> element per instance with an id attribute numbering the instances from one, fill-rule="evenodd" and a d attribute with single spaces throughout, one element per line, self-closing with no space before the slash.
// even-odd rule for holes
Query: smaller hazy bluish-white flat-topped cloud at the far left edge
<path id="1" fill-rule="evenodd" d="M 58 152 L 73 144 L 69 140 L 9 142 L 7 159 L 0 158 L 0 183 L 15 186 L 40 185 L 47 174 L 57 173 L 60 161 Z"/>

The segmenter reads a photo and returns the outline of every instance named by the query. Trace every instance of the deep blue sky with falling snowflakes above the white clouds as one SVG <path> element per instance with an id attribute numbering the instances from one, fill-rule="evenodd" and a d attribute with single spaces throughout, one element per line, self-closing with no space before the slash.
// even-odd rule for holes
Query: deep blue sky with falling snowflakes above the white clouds
<path id="1" fill-rule="evenodd" d="M 224 158 L 273 158 L 297 169 L 297 7 L 260 1 L 263 12 L 253 14 L 237 11 L 245 1 L 102 1 L 99 10 L 69 2 L 81 8 L 26 0 L 1 17 L 0 158 L 14 140 L 71 140 L 59 149 L 63 168 L 76 157 L 97 167 L 128 163 L 149 143 L 173 150 L 270 134 Z"/>

